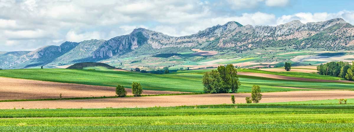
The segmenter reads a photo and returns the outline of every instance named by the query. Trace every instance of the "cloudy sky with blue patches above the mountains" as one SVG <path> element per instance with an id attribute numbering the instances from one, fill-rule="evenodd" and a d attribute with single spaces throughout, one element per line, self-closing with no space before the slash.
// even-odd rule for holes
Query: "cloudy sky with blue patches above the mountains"
<path id="1" fill-rule="evenodd" d="M 237 21 L 276 26 L 343 18 L 352 0 L 0 0 L 0 51 L 32 51 L 65 41 L 129 34 L 142 27 L 185 36 Z"/>

